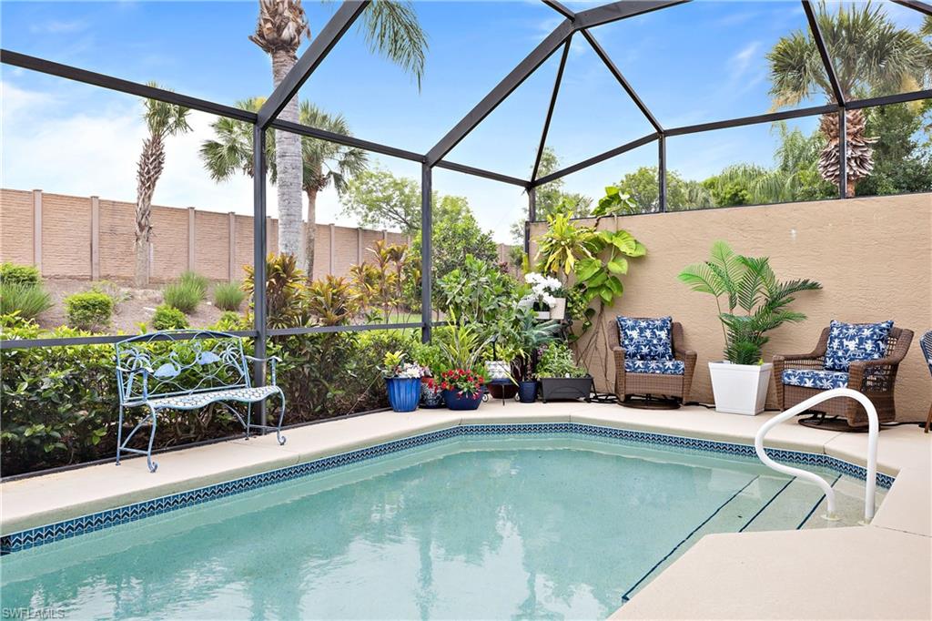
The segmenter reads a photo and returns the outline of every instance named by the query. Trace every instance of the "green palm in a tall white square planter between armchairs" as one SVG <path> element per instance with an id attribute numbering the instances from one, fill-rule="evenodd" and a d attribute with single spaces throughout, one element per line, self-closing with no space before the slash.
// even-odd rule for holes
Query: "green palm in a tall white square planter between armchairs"
<path id="1" fill-rule="evenodd" d="M 790 311 L 789 304 L 797 293 L 822 285 L 810 280 L 781 283 L 768 257 L 737 255 L 726 242 L 713 243 L 711 257 L 687 266 L 678 278 L 693 291 L 714 296 L 718 305 L 725 359 L 708 364 L 716 410 L 760 414 L 774 368 L 761 356 L 769 340 L 764 335 L 786 322 L 802 322 L 806 316 Z"/>

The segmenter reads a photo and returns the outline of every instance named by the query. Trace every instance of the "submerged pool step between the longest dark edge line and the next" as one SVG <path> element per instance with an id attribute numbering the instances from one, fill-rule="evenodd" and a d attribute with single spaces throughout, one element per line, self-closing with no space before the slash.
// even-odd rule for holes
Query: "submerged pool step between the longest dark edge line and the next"
<path id="1" fill-rule="evenodd" d="M 724 504 L 705 524 L 692 531 L 664 559 L 660 560 L 650 572 L 644 574 L 637 584 L 631 586 L 624 594 L 623 600 L 627 601 L 634 597 L 637 591 L 685 554 L 694 543 L 705 535 L 715 532 L 739 531 L 760 511 L 761 506 L 773 503 L 774 499 L 778 498 L 780 493 L 787 488 L 790 481 L 791 479 L 788 478 L 769 475 L 761 475 L 755 478 L 747 488 L 741 490 L 727 504 Z"/>

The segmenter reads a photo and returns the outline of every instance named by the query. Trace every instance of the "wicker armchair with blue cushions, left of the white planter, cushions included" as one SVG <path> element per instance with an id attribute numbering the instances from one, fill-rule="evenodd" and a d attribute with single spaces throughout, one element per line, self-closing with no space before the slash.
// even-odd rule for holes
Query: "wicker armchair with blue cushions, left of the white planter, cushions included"
<path id="1" fill-rule="evenodd" d="M 683 349 L 683 326 L 670 317 L 617 317 L 608 322 L 615 359 L 615 395 L 690 396 L 696 352 Z"/>

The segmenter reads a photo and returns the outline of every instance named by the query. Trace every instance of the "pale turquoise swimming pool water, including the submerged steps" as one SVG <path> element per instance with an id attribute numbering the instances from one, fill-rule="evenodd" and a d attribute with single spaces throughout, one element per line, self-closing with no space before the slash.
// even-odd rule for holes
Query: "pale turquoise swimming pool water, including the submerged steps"
<path id="1" fill-rule="evenodd" d="M 583 436 L 459 437 L 0 560 L 54 618 L 605 618 L 709 532 L 852 525 L 863 483 Z M 158 476 L 158 475 L 155 475 Z M 878 490 L 882 493 L 882 490 Z"/>

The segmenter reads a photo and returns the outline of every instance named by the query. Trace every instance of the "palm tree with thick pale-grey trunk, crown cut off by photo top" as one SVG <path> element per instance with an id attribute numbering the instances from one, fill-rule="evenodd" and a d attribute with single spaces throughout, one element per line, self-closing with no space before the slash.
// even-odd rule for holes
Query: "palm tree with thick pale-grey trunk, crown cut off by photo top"
<path id="1" fill-rule="evenodd" d="M 424 71 L 427 39 L 410 2 L 376 0 L 363 11 L 360 25 L 369 48 L 401 65 L 420 79 Z M 249 39 L 272 57 L 272 84 L 278 86 L 297 61 L 302 38 L 310 38 L 301 0 L 259 0 L 259 19 Z M 281 110 L 282 120 L 298 121 L 293 98 Z M 301 139 L 275 131 L 275 164 L 279 173 L 279 243 L 281 252 L 301 255 Z"/>

